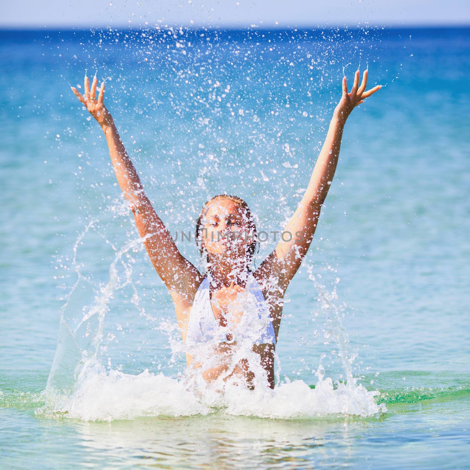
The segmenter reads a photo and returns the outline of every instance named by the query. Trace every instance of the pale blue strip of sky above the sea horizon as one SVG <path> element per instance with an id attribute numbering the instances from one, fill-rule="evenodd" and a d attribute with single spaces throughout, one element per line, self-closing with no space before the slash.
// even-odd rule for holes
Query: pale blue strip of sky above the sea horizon
<path id="1" fill-rule="evenodd" d="M 13 0 L 0 26 L 470 24 L 469 0 Z"/>

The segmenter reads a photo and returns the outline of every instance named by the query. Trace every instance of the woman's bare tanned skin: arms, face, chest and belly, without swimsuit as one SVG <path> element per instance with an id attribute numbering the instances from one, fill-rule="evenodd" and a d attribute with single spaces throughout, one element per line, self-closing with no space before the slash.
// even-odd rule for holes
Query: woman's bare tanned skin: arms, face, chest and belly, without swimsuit
<path id="1" fill-rule="evenodd" d="M 336 171 L 346 120 L 356 106 L 381 88 L 378 85 L 366 91 L 368 71 L 364 71 L 361 83 L 359 83 L 359 73 L 358 70 L 354 75 L 351 92 L 348 92 L 346 77 L 343 78 L 343 93 L 333 112 L 310 182 L 300 204 L 284 228 L 284 232 L 293 235 L 291 240 L 284 242 L 281 239 L 274 251 L 254 272 L 254 277 L 269 305 L 276 341 L 281 325 L 284 294 L 312 243 L 321 206 Z M 114 120 L 104 105 L 104 82 L 101 84 L 98 98 L 96 98 L 96 87 L 96 77 L 93 78 L 90 87 L 89 78 L 85 76 L 85 93 L 80 94 L 74 87 L 72 91 L 102 128 L 119 187 L 129 201 L 135 224 L 144 239 L 143 243 L 149 258 L 172 296 L 181 336 L 183 341 L 186 341 L 191 307 L 204 276 L 181 255 L 169 231 L 150 204 L 139 175 L 119 137 Z M 202 244 L 211 264 L 213 280 L 210 287 L 211 305 L 215 318 L 224 325 L 227 322 L 227 315 L 231 314 L 233 318 L 229 320 L 235 322 L 237 317 L 243 315 L 242 311 L 229 313 L 228 306 L 245 288 L 243 273 L 248 267 L 246 260 L 249 259 L 247 251 L 251 240 L 243 234 L 248 234 L 250 228 L 242 207 L 234 201 L 216 198 L 204 208 L 204 212 Z M 231 232 L 237 232 L 242 236 L 236 242 L 232 242 L 229 236 Z M 227 237 L 221 238 L 219 234 L 226 234 Z M 296 236 L 296 234 L 302 235 Z M 224 375 L 224 380 L 233 375 L 240 375 L 251 383 L 253 374 L 248 369 L 246 360 L 241 360 L 233 370 L 228 369 L 229 361 L 223 358 L 233 347 L 236 347 L 236 343 L 232 345 L 221 343 L 214 351 L 220 355 L 221 360 L 218 367 L 203 371 L 203 376 L 208 382 L 221 375 Z M 260 354 L 268 384 L 274 388 L 274 345 L 255 345 L 253 351 Z M 193 364 L 193 358 L 189 354 L 187 362 L 188 365 Z M 202 366 L 195 363 L 193 367 Z"/>

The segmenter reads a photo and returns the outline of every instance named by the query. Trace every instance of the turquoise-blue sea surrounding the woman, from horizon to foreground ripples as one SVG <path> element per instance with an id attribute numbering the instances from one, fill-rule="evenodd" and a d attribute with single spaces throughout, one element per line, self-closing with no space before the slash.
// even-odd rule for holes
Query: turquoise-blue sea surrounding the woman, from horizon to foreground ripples
<path id="1" fill-rule="evenodd" d="M 470 30 L 143 33 L 0 32 L 0 466 L 467 467 Z M 82 83 L 85 69 L 109 77 L 108 107 L 172 233 L 192 230 L 208 196 L 224 191 L 271 231 L 306 187 L 349 62 L 349 75 L 367 63 L 371 84 L 385 86 L 346 125 L 315 240 L 288 290 L 279 384 L 316 384 L 320 362 L 325 376 L 344 378 L 336 338 L 387 411 L 154 416 L 143 381 L 127 394 L 105 381 L 73 413 L 54 413 L 44 391 L 76 268 L 106 284 L 116 251 L 136 236 L 101 131 L 68 83 Z M 197 266 L 195 243 L 178 244 Z M 171 299 L 139 247 L 119 264 L 132 267 L 130 283 L 102 312 L 102 364 L 126 378 L 149 369 L 175 379 L 177 335 L 162 326 L 174 321 Z M 261 243 L 258 258 L 273 248 Z M 327 292 L 336 286 L 328 311 L 309 266 Z M 94 298 L 83 283 L 74 293 L 69 322 Z"/>

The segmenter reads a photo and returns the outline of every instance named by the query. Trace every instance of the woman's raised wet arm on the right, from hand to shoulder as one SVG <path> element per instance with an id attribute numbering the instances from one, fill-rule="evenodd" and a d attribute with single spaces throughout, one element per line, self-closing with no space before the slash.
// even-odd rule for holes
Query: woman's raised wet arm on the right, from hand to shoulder
<path id="1" fill-rule="evenodd" d="M 281 237 L 276 249 L 259 268 L 266 274 L 277 273 L 279 283 L 284 289 L 294 277 L 312 243 L 320 217 L 321 205 L 325 201 L 335 174 L 346 119 L 357 105 L 381 88 L 378 85 L 365 91 L 367 73 L 367 70 L 364 71 L 362 83 L 359 86 L 359 70 L 356 71 L 351 93 L 348 93 L 346 77 L 343 78 L 343 95 L 333 113 L 328 134 L 313 168 L 305 194 L 284 228 L 283 237 Z"/>

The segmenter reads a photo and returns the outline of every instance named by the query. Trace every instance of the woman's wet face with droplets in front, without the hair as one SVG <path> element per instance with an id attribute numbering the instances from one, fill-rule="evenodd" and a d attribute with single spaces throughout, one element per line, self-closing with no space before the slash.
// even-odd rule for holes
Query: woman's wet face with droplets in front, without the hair
<path id="1" fill-rule="evenodd" d="M 246 210 L 227 199 L 212 201 L 201 219 L 202 238 L 210 258 L 244 262 L 253 233 Z M 212 255 L 212 256 L 211 256 Z"/>

